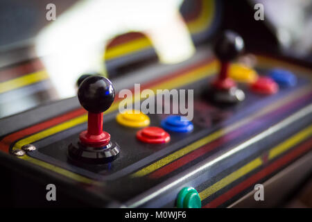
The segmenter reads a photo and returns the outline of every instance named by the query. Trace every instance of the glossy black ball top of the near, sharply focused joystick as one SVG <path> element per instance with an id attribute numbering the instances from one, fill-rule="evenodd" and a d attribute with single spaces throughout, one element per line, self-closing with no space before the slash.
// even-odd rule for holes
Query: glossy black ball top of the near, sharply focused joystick
<path id="1" fill-rule="evenodd" d="M 103 76 L 89 76 L 80 83 L 78 99 L 85 110 L 93 113 L 104 112 L 115 98 L 110 80 Z"/>

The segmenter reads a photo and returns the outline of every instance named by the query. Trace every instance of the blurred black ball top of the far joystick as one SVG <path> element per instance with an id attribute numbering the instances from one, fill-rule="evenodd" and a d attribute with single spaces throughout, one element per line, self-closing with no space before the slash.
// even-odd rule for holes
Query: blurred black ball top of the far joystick
<path id="1" fill-rule="evenodd" d="M 234 60 L 243 49 L 243 38 L 239 34 L 229 30 L 224 31 L 214 45 L 214 53 L 221 62 Z"/>

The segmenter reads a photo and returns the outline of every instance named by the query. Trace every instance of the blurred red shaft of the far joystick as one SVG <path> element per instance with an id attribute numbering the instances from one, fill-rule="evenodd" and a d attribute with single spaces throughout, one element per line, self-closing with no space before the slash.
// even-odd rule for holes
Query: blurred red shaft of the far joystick
<path id="1" fill-rule="evenodd" d="M 220 73 L 214 81 L 214 87 L 218 89 L 230 89 L 236 86 L 234 80 L 228 77 L 229 65 L 229 62 L 221 62 Z"/>

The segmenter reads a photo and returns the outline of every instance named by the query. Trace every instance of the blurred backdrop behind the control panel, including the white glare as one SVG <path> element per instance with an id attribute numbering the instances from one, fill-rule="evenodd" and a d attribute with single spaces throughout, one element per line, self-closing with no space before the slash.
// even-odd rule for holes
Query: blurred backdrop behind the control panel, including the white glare
<path id="1" fill-rule="evenodd" d="M 77 22 L 72 22 L 75 21 L 75 16 L 86 20 L 92 17 L 89 13 L 92 9 L 79 8 L 79 4 L 105 3 L 112 5 L 109 2 L 92 0 L 0 1 L 0 117 L 22 112 L 42 103 L 74 96 L 76 78 L 84 71 L 101 71 L 110 78 L 116 78 L 153 62 L 170 60 L 171 62 L 168 63 L 182 62 L 192 55 L 192 47 L 196 49 L 203 44 L 213 43 L 214 36 L 218 31 L 225 28 L 237 31 L 243 36 L 246 51 L 277 53 L 312 62 L 312 1 L 309 0 L 170 1 L 177 7 L 177 12 L 172 10 L 172 13 L 179 14 L 182 20 L 179 25 L 182 26 L 179 29 L 182 33 L 171 32 L 171 26 L 168 25 L 161 32 L 164 33 L 164 40 L 158 42 L 155 41 L 156 38 L 153 39 L 153 36 L 150 35 L 151 32 L 144 30 L 141 26 L 131 26 L 131 24 L 117 28 L 110 32 L 110 35 L 102 32 L 103 30 L 110 31 L 111 25 L 135 21 L 135 15 L 142 20 L 146 16 L 144 11 L 150 10 L 144 9 L 148 6 L 142 6 L 141 1 L 138 0 L 131 1 L 127 6 L 123 5 L 124 1 L 119 0 L 116 2 L 119 2 L 118 7 L 122 9 L 120 13 L 123 14 L 116 13 L 119 11 L 117 6 L 112 7 L 111 10 L 110 8 L 98 7 L 96 15 L 103 19 L 94 22 L 96 28 L 93 30 L 95 31 L 88 33 L 89 37 L 71 34 L 71 29 L 67 27 L 77 25 Z M 55 5 L 55 21 L 46 19 L 46 13 L 49 11 L 46 6 L 49 3 Z M 256 12 L 254 5 L 256 3 L 263 4 L 263 21 L 254 20 L 254 12 Z M 157 6 L 153 6 L 154 10 L 150 10 L 150 12 L 155 12 L 155 15 L 159 14 L 159 11 L 164 11 L 162 8 L 170 8 L 166 7 L 166 4 L 164 2 L 157 3 Z M 85 8 L 85 12 L 81 8 Z M 134 13 L 135 9 L 136 13 Z M 106 15 L 108 11 L 112 12 L 110 19 L 103 17 L 103 14 Z M 159 15 L 164 16 L 164 12 Z M 155 20 L 159 20 L 159 17 L 155 17 Z M 152 20 L 148 20 L 148 22 L 150 21 Z M 93 22 L 91 24 L 78 24 L 77 27 L 83 30 L 92 24 Z M 150 29 L 153 30 L 152 26 L 157 26 L 157 22 L 153 24 L 150 22 L 150 26 Z M 186 28 L 188 34 L 183 33 L 183 28 Z M 73 30 L 75 29 L 73 28 Z M 87 31 L 87 29 L 85 30 Z M 100 38 L 92 38 L 96 35 Z M 188 40 L 189 38 L 190 42 L 185 43 L 185 40 L 181 40 L 180 43 L 175 43 L 175 49 L 184 48 L 184 55 L 186 56 L 175 60 L 174 56 L 181 53 L 177 51 L 175 55 L 171 55 L 168 52 L 175 51 L 171 48 L 172 42 L 177 42 L 176 37 L 184 35 L 184 39 Z M 67 57 L 63 56 L 63 62 L 51 59 L 49 51 L 41 53 L 42 50 L 38 50 L 38 45 L 41 48 L 42 46 L 49 48 L 50 45 L 50 47 L 55 48 L 55 51 L 58 51 L 59 55 L 65 54 L 61 53 L 61 49 L 64 49 L 67 44 L 63 42 L 64 45 L 62 45 L 62 42 L 59 43 L 56 40 L 62 40 L 66 36 L 69 42 L 74 42 L 72 47 L 75 49 L 71 50 L 70 47 L 67 49 L 67 51 L 71 51 L 73 56 L 83 45 L 93 44 L 92 41 L 103 40 L 106 44 L 104 42 L 97 43 L 98 49 L 87 52 L 89 56 L 85 57 L 78 58 L 76 56 L 74 58 L 68 53 L 65 55 Z M 41 41 L 40 44 L 38 43 L 39 40 Z M 157 47 L 155 47 L 155 42 L 157 42 Z M 159 44 L 159 42 L 163 44 Z M 189 46 L 186 47 L 187 45 Z M 80 64 L 87 63 L 84 62 L 85 58 L 91 58 L 96 53 L 101 53 L 103 67 L 96 67 L 94 70 L 79 67 Z M 166 60 L 162 60 L 159 53 L 167 56 Z M 57 65 L 58 63 L 60 64 Z M 89 63 L 92 65 L 92 61 Z M 60 70 L 64 73 L 60 74 Z"/>

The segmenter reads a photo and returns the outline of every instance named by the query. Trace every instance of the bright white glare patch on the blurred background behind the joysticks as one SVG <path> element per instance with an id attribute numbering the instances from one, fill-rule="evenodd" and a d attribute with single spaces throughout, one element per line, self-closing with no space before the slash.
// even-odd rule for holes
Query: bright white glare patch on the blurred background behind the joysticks
<path id="1" fill-rule="evenodd" d="M 59 96 L 74 96 L 74 84 L 83 72 L 105 73 L 103 53 L 107 40 L 129 31 L 148 35 L 161 62 L 189 58 L 195 49 L 179 12 L 181 3 L 182 0 L 79 1 L 57 17 L 38 35 L 36 51 L 38 56 L 49 55 L 43 62 Z"/>

